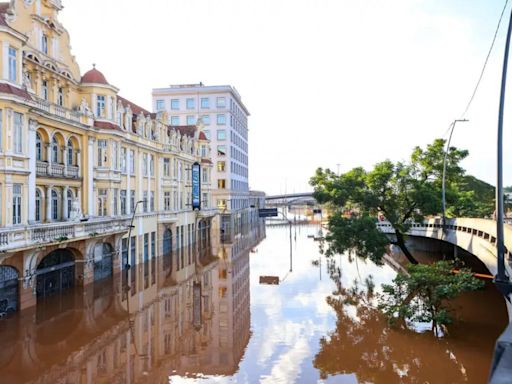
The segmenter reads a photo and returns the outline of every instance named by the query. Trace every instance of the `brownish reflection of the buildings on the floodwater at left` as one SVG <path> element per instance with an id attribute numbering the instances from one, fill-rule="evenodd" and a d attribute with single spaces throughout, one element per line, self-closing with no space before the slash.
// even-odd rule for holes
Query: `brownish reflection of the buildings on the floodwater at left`
<path id="1" fill-rule="evenodd" d="M 185 248 L 170 255 L 185 260 L 179 270 L 166 256 L 153 258 L 4 319 L 1 382 L 168 383 L 171 375 L 234 374 L 250 339 L 249 253 L 264 236 L 264 225 L 242 233 L 218 257 Z"/>

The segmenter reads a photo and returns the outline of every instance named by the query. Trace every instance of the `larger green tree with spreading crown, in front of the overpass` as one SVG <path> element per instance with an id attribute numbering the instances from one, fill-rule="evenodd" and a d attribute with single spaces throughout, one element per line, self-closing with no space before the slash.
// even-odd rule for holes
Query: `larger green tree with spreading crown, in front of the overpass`
<path id="1" fill-rule="evenodd" d="M 446 176 L 450 201 L 456 200 L 456 183 L 464 176 L 459 163 L 465 150 L 450 148 Z M 327 253 L 352 250 L 376 261 L 389 243 L 396 244 L 410 263 L 417 264 L 405 245 L 411 222 L 441 212 L 441 185 L 444 140 L 436 139 L 426 149 L 416 147 L 408 162 L 378 163 L 373 170 L 354 168 L 336 175 L 319 168 L 311 178 L 319 203 L 330 204 L 335 213 L 329 221 Z M 375 226 L 378 214 L 384 215 L 395 231 L 389 240 Z"/>

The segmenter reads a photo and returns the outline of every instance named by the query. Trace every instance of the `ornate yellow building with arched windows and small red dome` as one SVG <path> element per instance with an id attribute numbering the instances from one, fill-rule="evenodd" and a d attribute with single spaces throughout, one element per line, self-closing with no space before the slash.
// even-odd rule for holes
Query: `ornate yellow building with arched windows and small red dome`
<path id="1" fill-rule="evenodd" d="M 61 9 L 0 3 L 0 316 L 160 255 L 179 273 L 216 214 L 201 127 L 81 75 Z"/>

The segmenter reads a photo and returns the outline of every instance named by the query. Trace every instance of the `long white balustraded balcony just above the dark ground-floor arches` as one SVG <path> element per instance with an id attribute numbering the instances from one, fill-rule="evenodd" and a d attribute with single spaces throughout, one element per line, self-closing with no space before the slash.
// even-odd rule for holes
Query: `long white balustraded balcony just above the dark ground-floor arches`
<path id="1" fill-rule="evenodd" d="M 0 230 L 0 252 L 14 251 L 48 243 L 69 242 L 84 238 L 128 231 L 129 219 L 98 218 L 87 222 L 34 224 Z"/>

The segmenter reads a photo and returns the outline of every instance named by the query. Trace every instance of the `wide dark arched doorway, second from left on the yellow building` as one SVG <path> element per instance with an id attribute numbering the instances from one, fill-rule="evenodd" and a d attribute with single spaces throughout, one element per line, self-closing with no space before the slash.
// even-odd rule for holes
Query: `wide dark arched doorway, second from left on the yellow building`
<path id="1" fill-rule="evenodd" d="M 69 249 L 56 249 L 44 257 L 36 270 L 38 298 L 60 293 L 75 285 L 75 258 Z"/>

